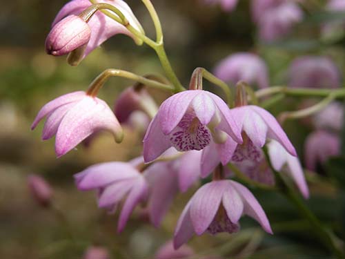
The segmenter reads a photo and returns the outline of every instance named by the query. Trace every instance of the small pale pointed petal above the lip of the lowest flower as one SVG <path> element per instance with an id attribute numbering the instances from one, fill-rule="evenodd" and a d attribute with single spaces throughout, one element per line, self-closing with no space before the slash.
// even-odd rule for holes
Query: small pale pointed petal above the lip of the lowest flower
<path id="1" fill-rule="evenodd" d="M 242 216 L 244 204 L 241 197 L 230 182 L 228 182 L 228 187 L 224 191 L 221 201 L 224 209 L 226 210 L 226 215 L 228 215 L 228 218 L 231 222 L 236 224 L 239 221 L 239 218 Z"/>

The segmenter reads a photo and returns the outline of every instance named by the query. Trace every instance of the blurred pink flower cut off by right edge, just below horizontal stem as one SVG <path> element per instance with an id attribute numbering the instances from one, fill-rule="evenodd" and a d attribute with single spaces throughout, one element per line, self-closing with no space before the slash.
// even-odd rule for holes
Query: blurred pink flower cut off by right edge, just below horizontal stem
<path id="1" fill-rule="evenodd" d="M 324 110 L 313 117 L 317 129 L 339 132 L 344 122 L 344 106 L 339 102 L 328 104 Z"/>

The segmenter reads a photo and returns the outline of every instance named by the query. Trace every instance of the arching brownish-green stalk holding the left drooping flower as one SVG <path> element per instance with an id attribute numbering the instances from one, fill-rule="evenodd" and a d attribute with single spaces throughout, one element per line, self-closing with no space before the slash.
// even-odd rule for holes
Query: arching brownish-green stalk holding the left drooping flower
<path id="1" fill-rule="evenodd" d="M 140 75 L 136 75 L 125 70 L 108 68 L 107 70 L 104 70 L 98 77 L 96 77 L 94 81 L 92 81 L 87 91 L 88 95 L 97 95 L 99 89 L 103 86 L 103 84 L 109 77 L 124 77 L 127 79 L 132 79 L 141 84 L 144 84 L 145 86 L 149 86 L 152 88 L 170 91 L 173 90 L 172 86 L 169 86 L 168 84 L 162 84 L 159 81 L 150 80 L 146 77 L 141 77 Z"/>

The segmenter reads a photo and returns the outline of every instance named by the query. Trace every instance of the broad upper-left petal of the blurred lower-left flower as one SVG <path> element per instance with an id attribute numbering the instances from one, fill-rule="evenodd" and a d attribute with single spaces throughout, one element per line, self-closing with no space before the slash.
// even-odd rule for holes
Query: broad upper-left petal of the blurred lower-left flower
<path id="1" fill-rule="evenodd" d="M 139 175 L 137 169 L 126 162 L 106 162 L 88 167 L 75 175 L 79 190 L 86 191 L 101 188 L 112 182 L 134 178 Z"/>

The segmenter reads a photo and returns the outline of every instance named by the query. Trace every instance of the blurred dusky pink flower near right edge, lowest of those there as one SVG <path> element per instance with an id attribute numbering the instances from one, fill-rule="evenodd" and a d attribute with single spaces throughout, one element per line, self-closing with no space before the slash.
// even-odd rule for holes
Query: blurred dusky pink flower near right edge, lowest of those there
<path id="1" fill-rule="evenodd" d="M 304 143 L 306 168 L 311 171 L 316 171 L 318 164 L 324 164 L 329 157 L 339 155 L 339 153 L 339 137 L 326 131 L 311 133 Z"/>

